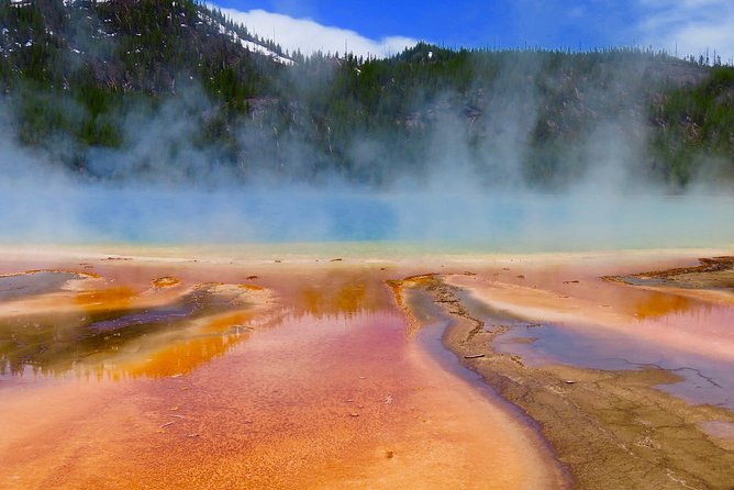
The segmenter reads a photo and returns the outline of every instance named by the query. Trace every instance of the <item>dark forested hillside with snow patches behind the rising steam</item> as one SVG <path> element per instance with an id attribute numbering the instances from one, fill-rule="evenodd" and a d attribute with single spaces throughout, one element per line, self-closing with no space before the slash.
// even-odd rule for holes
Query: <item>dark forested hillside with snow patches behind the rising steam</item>
<path id="1" fill-rule="evenodd" d="M 734 182 L 731 67 L 423 43 L 307 58 L 190 0 L 2 0 L 0 25 L 4 134 L 81 179 Z"/>

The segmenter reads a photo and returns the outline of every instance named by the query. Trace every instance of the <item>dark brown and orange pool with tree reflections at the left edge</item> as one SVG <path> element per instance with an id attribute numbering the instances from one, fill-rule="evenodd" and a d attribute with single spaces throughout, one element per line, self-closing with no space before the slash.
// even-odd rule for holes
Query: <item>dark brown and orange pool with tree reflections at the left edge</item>
<path id="1" fill-rule="evenodd" d="M 25 294 L 58 291 L 73 274 L 33 274 L 4 285 Z M 204 283 L 147 305 L 129 286 L 54 297 L 59 311 L 0 318 L 0 378 L 78 376 L 113 379 L 189 372 L 246 338 L 254 314 L 248 302 L 263 288 Z M 268 321 L 267 316 L 258 321 Z"/>

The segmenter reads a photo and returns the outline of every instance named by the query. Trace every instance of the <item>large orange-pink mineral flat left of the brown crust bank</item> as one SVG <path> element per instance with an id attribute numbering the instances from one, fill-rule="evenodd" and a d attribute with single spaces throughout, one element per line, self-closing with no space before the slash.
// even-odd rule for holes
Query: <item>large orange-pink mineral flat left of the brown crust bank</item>
<path id="1" fill-rule="evenodd" d="M 98 277 L 0 308 L 0 488 L 566 486 L 408 334 L 386 281 L 411 267 L 75 260 L 35 268 Z"/>

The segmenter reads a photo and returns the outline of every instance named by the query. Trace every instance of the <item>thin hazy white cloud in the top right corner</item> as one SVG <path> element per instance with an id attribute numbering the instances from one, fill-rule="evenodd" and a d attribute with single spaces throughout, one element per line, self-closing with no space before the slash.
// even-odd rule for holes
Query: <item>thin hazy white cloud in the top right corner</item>
<path id="1" fill-rule="evenodd" d="M 732 0 L 640 0 L 644 44 L 678 56 L 698 58 L 709 49 L 734 63 L 734 2 Z"/>

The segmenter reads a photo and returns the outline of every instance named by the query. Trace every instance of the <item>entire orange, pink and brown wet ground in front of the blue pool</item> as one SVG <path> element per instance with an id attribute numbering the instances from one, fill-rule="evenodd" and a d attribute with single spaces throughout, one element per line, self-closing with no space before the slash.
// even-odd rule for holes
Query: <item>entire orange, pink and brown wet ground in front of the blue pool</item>
<path id="1" fill-rule="evenodd" d="M 734 483 L 721 260 L 62 252 L 0 259 L 0 488 Z"/>

